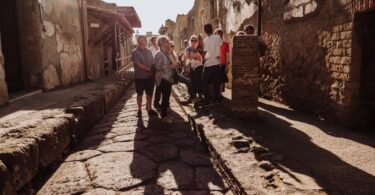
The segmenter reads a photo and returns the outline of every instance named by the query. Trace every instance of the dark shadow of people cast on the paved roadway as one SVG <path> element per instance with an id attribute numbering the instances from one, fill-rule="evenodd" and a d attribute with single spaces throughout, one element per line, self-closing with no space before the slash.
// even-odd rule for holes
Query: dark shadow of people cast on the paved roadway
<path id="1" fill-rule="evenodd" d="M 183 117 L 173 111 L 174 123 L 162 123 L 158 117 L 149 117 L 147 122 L 139 119 L 135 140 L 145 139 L 145 147 L 134 142 L 134 157 L 131 174 L 141 180 L 138 188 L 143 194 L 163 195 L 177 192 L 187 194 L 210 194 L 210 191 L 227 192 L 228 188 L 213 168 L 209 155 L 192 133 Z M 147 162 L 145 162 L 147 161 Z M 150 175 L 139 170 L 140 164 L 152 162 Z M 143 174 L 139 174 L 143 173 Z"/>

